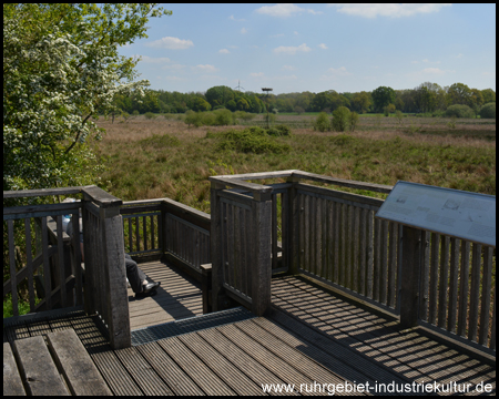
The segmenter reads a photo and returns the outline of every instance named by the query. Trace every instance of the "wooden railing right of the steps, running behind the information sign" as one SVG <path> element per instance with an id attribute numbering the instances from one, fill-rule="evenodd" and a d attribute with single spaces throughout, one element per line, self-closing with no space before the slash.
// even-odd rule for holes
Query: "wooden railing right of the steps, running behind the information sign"
<path id="1" fill-rule="evenodd" d="M 275 178 L 286 183 L 246 182 Z M 287 270 L 326 283 L 401 320 L 416 318 L 419 325 L 458 340 L 478 342 L 480 349 L 496 349 L 495 247 L 421 232 L 420 284 L 413 284 L 418 285 L 419 300 L 416 307 L 401 307 L 403 282 L 410 285 L 416 279 L 409 263 L 403 263 L 403 226 L 375 218 L 384 200 L 303 181 L 385 194 L 393 186 L 301 171 L 210 180 L 212 234 L 216 232 L 212 236 L 214 303 L 215 293 L 225 289 L 246 306 L 258 295 L 261 309 L 266 309 L 265 276 L 271 268 Z M 282 242 L 277 242 L 278 228 Z M 257 287 L 252 286 L 255 275 Z"/>

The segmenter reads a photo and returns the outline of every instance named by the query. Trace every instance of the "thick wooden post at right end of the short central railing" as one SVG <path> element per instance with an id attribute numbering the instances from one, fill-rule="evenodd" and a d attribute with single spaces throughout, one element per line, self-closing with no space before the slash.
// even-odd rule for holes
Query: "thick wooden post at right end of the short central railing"
<path id="1" fill-rule="evenodd" d="M 272 194 L 254 193 L 253 204 L 254 264 L 252 270 L 252 311 L 263 316 L 271 306 L 271 235 L 272 235 Z"/>

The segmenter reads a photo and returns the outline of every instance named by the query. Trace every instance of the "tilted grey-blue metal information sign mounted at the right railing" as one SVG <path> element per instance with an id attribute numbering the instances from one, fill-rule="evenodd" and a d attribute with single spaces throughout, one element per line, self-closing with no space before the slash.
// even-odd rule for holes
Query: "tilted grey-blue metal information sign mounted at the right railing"
<path id="1" fill-rule="evenodd" d="M 376 217 L 496 247 L 496 197 L 398 181 Z"/>

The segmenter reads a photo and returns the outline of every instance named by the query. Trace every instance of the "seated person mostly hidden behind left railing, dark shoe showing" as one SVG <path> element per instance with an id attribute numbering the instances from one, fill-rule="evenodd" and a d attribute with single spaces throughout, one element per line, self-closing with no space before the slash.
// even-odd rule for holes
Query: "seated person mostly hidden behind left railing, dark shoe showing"
<path id="1" fill-rule="evenodd" d="M 73 198 L 67 198 L 67 200 L 73 200 Z M 67 200 L 64 200 L 63 202 L 70 202 Z M 72 202 L 75 202 L 75 200 L 73 200 Z M 65 223 L 65 226 L 67 226 L 65 233 L 70 237 L 72 237 L 73 224 L 71 223 L 71 215 L 67 215 L 63 217 L 69 218 L 69 222 Z M 81 262 L 84 262 L 83 226 L 82 226 L 81 217 L 80 217 L 80 249 L 81 249 Z M 124 254 L 124 258 L 125 258 L 126 278 L 128 278 L 133 291 L 135 293 L 135 298 L 142 298 L 145 296 L 154 295 L 157 287 L 161 285 L 161 283 L 150 283 L 147 280 L 147 276 L 145 275 L 145 273 L 139 268 L 139 266 L 136 265 L 136 262 L 133 260 L 129 254 Z"/>

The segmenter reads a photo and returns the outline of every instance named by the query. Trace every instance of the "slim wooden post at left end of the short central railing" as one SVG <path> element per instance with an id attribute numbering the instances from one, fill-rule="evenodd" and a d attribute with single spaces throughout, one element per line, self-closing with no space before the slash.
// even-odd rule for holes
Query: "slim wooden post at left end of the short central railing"
<path id="1" fill-rule="evenodd" d="M 222 293 L 224 275 L 222 265 L 222 206 L 218 192 L 224 190 L 223 184 L 212 182 L 211 187 L 211 256 L 212 256 L 212 310 L 217 311 L 221 308 L 218 295 Z"/>

